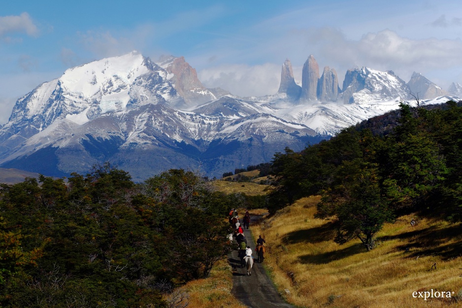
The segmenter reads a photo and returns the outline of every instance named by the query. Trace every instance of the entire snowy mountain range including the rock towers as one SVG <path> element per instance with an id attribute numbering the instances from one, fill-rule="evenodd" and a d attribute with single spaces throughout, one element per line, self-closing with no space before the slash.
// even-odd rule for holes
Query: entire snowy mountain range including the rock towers
<path id="1" fill-rule="evenodd" d="M 221 176 L 301 150 L 340 129 L 396 109 L 399 102 L 462 96 L 414 73 L 355 68 L 342 88 L 334 69 L 309 56 L 301 86 L 282 66 L 274 95 L 240 98 L 206 88 L 183 57 L 153 62 L 132 52 L 67 69 L 20 98 L 0 129 L 0 167 L 50 176 L 85 173 L 109 161 L 135 181 L 172 168 Z"/>

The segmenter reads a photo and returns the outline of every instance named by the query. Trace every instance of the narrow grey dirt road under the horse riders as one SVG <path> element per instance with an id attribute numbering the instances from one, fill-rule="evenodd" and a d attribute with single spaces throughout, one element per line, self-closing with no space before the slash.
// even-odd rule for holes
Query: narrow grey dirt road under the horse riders
<path id="1" fill-rule="evenodd" d="M 250 226 L 250 229 L 252 225 Z M 264 272 L 263 264 L 257 261 L 255 252 L 255 243 L 250 230 L 244 230 L 244 236 L 247 239 L 247 245 L 252 248 L 255 257 L 252 275 L 247 276 L 245 267 L 240 267 L 240 260 L 237 257 L 237 250 L 232 250 L 228 260 L 233 270 L 232 290 L 231 293 L 244 305 L 251 308 L 294 308 L 287 304 L 281 298 L 271 280 Z M 237 246 L 237 244 L 236 244 Z"/>

